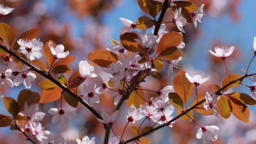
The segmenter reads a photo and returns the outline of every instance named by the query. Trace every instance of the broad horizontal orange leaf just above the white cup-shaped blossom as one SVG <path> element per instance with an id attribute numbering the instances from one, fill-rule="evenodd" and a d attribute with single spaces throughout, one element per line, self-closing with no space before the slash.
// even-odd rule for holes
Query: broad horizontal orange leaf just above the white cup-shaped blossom
<path id="1" fill-rule="evenodd" d="M 95 64 L 100 67 L 108 67 L 112 62 L 117 62 L 119 56 L 109 50 L 96 50 L 87 56 Z"/>

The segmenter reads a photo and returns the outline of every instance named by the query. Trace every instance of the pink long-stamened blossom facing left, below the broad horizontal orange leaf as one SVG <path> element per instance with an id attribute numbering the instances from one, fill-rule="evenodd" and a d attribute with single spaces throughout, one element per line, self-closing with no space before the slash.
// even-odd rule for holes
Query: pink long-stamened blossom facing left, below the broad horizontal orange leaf
<path id="1" fill-rule="evenodd" d="M 112 74 L 110 77 L 110 81 L 114 83 L 113 87 L 118 86 L 120 81 L 125 77 L 125 65 L 121 64 L 120 61 L 112 62 L 109 65 L 109 68 L 101 68 L 102 71 Z"/>

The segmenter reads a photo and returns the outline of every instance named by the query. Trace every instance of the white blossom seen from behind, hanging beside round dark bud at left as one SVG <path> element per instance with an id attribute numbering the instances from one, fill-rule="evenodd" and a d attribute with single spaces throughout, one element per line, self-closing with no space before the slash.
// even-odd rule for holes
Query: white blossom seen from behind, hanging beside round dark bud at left
<path id="1" fill-rule="evenodd" d="M 36 79 L 36 74 L 32 72 L 24 72 L 19 74 L 14 80 L 13 83 L 15 86 L 19 86 L 22 82 L 27 89 L 30 89 L 32 84 L 31 81 Z"/>

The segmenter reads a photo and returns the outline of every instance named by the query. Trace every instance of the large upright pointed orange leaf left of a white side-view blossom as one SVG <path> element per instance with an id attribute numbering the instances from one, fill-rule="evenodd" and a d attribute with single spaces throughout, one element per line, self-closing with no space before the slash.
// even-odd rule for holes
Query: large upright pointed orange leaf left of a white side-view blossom
<path id="1" fill-rule="evenodd" d="M 173 79 L 173 86 L 175 92 L 180 96 L 185 105 L 188 102 L 192 92 L 193 92 L 193 83 L 189 82 L 185 76 L 185 71 L 180 70 L 179 73 Z"/>

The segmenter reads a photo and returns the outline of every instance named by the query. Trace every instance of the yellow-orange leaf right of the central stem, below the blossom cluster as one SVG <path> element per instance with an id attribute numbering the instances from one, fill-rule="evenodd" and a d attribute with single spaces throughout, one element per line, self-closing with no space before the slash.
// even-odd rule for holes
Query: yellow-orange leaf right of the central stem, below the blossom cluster
<path id="1" fill-rule="evenodd" d="M 139 89 L 141 89 L 141 86 L 139 86 Z M 142 99 L 142 98 L 145 98 L 143 90 L 136 90 L 136 91 L 139 95 L 135 91 L 131 93 L 131 95 L 129 96 L 129 99 L 126 102 L 128 107 L 130 107 L 133 104 L 136 108 L 139 108 L 141 104 L 145 103 L 145 101 Z"/>

